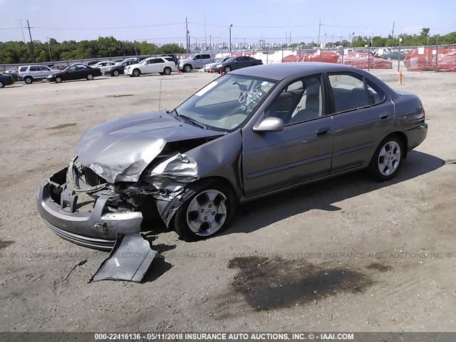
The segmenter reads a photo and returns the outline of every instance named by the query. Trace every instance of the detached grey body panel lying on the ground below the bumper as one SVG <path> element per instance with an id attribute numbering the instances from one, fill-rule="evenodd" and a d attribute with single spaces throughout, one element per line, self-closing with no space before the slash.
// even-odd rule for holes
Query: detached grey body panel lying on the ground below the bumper
<path id="1" fill-rule="evenodd" d="M 125 280 L 140 282 L 157 251 L 141 234 L 119 234 L 108 259 L 103 261 L 89 282 Z"/>

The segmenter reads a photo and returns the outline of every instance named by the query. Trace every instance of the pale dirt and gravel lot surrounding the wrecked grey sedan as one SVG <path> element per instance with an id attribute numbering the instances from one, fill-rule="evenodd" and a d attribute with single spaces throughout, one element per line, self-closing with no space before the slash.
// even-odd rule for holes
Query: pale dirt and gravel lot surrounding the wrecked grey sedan
<path id="1" fill-rule="evenodd" d="M 172 108 L 215 76 L 163 77 L 161 103 L 160 76 L 1 89 L 0 330 L 455 331 L 456 73 L 373 73 L 418 93 L 430 125 L 395 180 L 356 172 L 261 199 L 202 242 L 157 224 L 141 284 L 87 284 L 108 253 L 46 228 L 36 187 L 91 126 Z"/>

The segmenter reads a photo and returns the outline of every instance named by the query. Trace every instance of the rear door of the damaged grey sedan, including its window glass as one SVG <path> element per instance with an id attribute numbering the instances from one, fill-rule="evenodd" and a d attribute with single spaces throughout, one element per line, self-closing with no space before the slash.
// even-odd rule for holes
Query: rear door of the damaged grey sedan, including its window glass
<path id="1" fill-rule="evenodd" d="M 393 103 L 356 73 L 330 73 L 328 83 L 334 136 L 331 172 L 366 165 L 393 123 Z"/>

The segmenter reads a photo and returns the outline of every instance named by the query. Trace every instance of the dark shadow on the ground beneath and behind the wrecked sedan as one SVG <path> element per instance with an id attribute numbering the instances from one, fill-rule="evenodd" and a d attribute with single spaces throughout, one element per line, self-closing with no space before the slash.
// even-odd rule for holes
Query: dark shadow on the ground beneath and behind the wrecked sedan
<path id="1" fill-rule="evenodd" d="M 328 212 L 341 210 L 333 203 L 411 180 L 437 170 L 442 165 L 445 165 L 445 161 L 440 158 L 411 151 L 398 175 L 388 182 L 375 182 L 367 172 L 361 170 L 333 177 L 324 182 L 286 190 L 272 195 L 274 197 L 257 199 L 240 206 L 230 227 L 220 235 L 254 232 L 281 219 L 308 212 L 311 209 Z"/>

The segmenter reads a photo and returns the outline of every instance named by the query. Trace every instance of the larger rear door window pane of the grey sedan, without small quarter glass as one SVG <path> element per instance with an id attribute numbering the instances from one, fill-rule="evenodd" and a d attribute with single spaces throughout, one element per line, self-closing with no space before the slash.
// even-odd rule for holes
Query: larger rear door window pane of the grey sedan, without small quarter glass
<path id="1" fill-rule="evenodd" d="M 351 75 L 329 75 L 333 92 L 334 111 L 344 112 L 369 105 L 363 80 Z"/>

